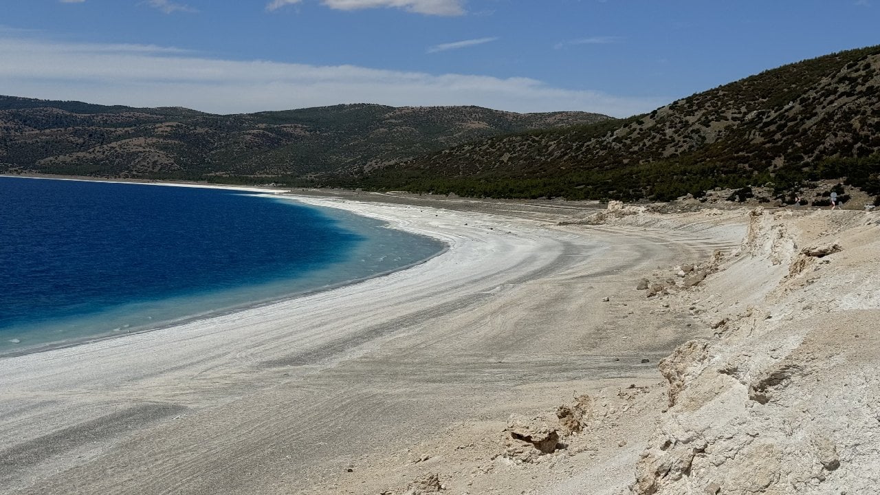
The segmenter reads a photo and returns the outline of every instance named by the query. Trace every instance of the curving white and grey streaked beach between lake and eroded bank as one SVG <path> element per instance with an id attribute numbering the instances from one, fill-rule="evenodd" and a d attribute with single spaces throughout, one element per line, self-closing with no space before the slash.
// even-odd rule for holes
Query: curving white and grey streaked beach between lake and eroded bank
<path id="1" fill-rule="evenodd" d="M 656 377 L 641 359 L 688 335 L 672 314 L 630 318 L 634 281 L 736 238 L 303 201 L 451 248 L 333 291 L 0 360 L 0 493 L 308 491 L 457 421 L 543 407 L 560 383 Z"/>

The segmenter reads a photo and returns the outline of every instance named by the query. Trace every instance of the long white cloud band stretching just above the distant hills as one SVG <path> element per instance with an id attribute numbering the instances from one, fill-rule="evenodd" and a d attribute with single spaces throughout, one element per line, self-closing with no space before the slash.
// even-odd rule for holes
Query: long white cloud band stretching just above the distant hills
<path id="1" fill-rule="evenodd" d="M 627 116 L 668 100 L 563 89 L 532 78 L 216 60 L 178 48 L 70 44 L 10 34 L 0 35 L 0 60 L 0 88 L 14 96 L 218 114 L 381 103 Z"/>

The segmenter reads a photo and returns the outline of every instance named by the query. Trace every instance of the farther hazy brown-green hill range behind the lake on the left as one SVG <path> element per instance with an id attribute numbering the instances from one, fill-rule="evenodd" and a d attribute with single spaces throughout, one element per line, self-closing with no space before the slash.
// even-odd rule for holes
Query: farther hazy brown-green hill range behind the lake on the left
<path id="1" fill-rule="evenodd" d="M 502 133 L 607 118 L 366 104 L 211 115 L 0 96 L 0 173 L 263 181 L 363 172 Z"/>

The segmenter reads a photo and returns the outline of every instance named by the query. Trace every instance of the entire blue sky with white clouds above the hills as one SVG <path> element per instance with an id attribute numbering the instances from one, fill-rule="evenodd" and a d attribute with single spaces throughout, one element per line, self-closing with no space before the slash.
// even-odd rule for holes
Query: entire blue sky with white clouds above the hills
<path id="1" fill-rule="evenodd" d="M 0 94 L 624 117 L 880 44 L 880 0 L 0 0 Z"/>

